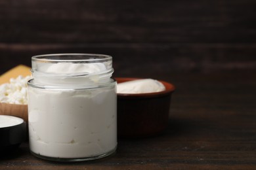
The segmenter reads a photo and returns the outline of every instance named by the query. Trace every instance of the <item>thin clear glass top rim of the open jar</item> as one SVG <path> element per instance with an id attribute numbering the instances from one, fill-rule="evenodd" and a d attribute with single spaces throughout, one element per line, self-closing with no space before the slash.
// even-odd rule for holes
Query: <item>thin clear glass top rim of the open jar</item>
<path id="1" fill-rule="evenodd" d="M 72 58 L 70 58 L 72 56 Z M 76 58 L 75 58 L 76 57 Z M 60 54 L 42 54 L 32 56 L 32 61 L 39 62 L 79 62 L 95 63 L 112 61 L 112 56 L 106 54 L 86 54 L 86 53 L 60 53 Z"/>

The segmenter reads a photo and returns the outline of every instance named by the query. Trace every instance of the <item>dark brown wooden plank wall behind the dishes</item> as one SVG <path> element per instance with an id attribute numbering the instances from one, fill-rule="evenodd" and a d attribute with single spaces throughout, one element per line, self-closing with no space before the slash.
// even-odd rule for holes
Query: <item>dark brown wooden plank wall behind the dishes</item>
<path id="1" fill-rule="evenodd" d="M 0 0 L 0 73 L 67 52 L 109 54 L 117 76 L 255 71 L 256 1 Z"/>

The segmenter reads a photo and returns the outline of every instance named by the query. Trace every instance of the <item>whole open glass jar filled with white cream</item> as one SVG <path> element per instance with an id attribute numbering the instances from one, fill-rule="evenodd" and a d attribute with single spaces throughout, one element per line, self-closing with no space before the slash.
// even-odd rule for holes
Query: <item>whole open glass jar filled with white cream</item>
<path id="1" fill-rule="evenodd" d="M 117 147 L 116 80 L 112 57 L 32 57 L 28 82 L 30 151 L 46 160 L 95 160 Z"/>

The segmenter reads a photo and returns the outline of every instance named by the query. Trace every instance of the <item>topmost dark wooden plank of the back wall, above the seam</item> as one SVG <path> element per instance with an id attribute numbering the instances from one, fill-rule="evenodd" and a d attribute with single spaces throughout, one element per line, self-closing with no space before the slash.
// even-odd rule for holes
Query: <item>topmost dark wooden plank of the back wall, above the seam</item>
<path id="1" fill-rule="evenodd" d="M 255 42 L 255 1 L 1 1 L 5 42 Z"/>

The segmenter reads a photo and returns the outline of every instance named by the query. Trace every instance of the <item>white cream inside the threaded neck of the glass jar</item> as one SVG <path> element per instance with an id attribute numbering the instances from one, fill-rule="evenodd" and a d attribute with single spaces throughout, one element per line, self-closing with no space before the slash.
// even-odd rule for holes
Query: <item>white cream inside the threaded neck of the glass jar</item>
<path id="1" fill-rule="evenodd" d="M 36 67 L 37 71 L 33 73 L 38 77 L 36 83 L 49 86 L 69 86 L 74 82 L 74 86 L 94 86 L 95 83 L 109 82 L 111 76 L 104 63 L 37 63 Z"/>

